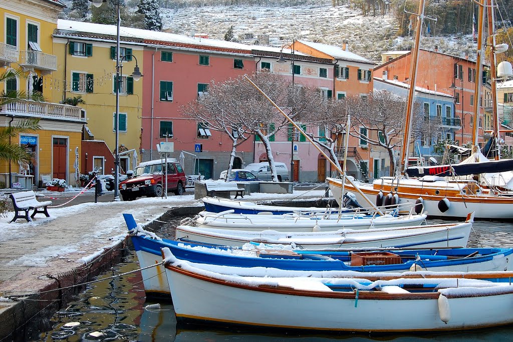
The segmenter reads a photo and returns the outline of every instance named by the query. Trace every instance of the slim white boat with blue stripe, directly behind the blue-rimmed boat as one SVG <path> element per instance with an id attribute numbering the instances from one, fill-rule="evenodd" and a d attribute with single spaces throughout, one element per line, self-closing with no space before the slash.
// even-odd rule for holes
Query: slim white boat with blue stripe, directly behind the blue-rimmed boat
<path id="1" fill-rule="evenodd" d="M 360 230 L 340 229 L 331 232 L 243 231 L 178 226 L 176 239 L 225 246 L 243 246 L 246 243 L 280 244 L 312 250 L 365 247 L 464 247 L 468 242 L 471 222 L 472 218 L 469 217 L 465 223 Z"/>

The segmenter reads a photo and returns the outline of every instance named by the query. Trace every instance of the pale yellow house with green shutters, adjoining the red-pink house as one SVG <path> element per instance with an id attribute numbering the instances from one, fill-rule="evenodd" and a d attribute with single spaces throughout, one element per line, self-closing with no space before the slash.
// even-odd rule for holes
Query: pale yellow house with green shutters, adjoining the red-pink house
<path id="1" fill-rule="evenodd" d="M 122 83 L 120 88 L 120 152 L 141 148 L 142 82 L 130 75 L 136 63 L 143 67 L 144 42 L 141 38 L 126 37 L 121 32 Z M 58 78 L 64 79 L 64 89 L 53 92 L 54 101 L 82 96 L 79 104 L 87 120 L 85 140 L 103 140 L 107 149 L 87 150 L 83 165 L 90 171 L 102 167 L 101 173 L 112 171 L 115 153 L 114 78 L 116 69 L 116 26 L 59 20 L 53 34 L 53 51 L 58 56 Z M 85 143 L 86 144 L 86 143 Z M 84 145 L 85 146 L 85 145 Z M 86 147 L 84 147 L 86 149 Z M 120 156 L 120 172 L 125 173 L 136 164 L 132 152 Z"/>

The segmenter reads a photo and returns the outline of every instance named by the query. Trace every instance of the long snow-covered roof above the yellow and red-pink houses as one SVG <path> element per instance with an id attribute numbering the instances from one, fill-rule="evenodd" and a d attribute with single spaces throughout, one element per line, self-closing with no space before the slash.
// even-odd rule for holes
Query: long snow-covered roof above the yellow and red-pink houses
<path id="1" fill-rule="evenodd" d="M 115 25 L 93 24 L 84 22 L 75 22 L 71 20 L 59 19 L 57 21 L 58 30 L 74 31 L 76 33 L 88 33 L 91 35 L 109 35 L 116 36 Z M 63 35 L 57 32 L 55 36 Z M 69 36 L 69 34 L 68 34 Z M 146 43 L 179 46 L 196 46 L 202 48 L 212 48 L 216 50 L 231 50 L 243 53 L 250 53 L 251 47 L 245 44 L 221 41 L 218 39 L 188 37 L 185 35 L 157 32 L 143 29 L 134 29 L 130 27 L 121 27 L 120 36 L 125 38 L 143 39 Z"/>

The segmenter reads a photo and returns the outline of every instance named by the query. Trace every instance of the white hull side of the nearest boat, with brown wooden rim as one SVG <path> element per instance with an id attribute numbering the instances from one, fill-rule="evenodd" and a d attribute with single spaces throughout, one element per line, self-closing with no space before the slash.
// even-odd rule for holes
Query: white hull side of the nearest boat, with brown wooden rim
<path id="1" fill-rule="evenodd" d="M 286 286 L 236 284 L 175 267 L 166 267 L 166 274 L 179 319 L 377 332 L 461 330 L 513 323 L 510 286 L 508 292 L 496 295 L 447 298 L 450 319 L 444 323 L 441 317 L 446 312 L 439 309 L 437 292 L 299 291 Z"/>

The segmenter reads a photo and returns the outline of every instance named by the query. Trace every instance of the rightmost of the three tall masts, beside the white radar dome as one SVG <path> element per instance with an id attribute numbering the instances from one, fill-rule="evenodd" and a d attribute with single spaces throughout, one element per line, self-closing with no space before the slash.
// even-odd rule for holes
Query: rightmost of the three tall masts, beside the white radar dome
<path id="1" fill-rule="evenodd" d="M 491 83 L 491 98 L 492 98 L 492 115 L 494 120 L 494 140 L 497 147 L 497 154 L 495 160 L 501 158 L 501 150 L 499 148 L 499 113 L 497 111 L 497 80 L 496 80 L 496 59 L 495 59 L 495 11 L 494 0 L 487 0 L 486 11 L 488 13 L 488 37 L 490 39 L 490 83 Z"/>

